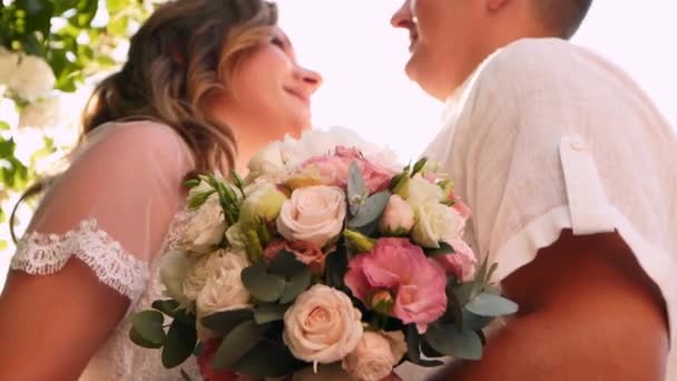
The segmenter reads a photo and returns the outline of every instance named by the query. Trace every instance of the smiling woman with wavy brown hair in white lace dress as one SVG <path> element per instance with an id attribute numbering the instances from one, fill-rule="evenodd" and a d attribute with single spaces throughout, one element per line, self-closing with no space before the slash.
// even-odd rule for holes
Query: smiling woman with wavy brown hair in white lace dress
<path id="1" fill-rule="evenodd" d="M 321 77 L 275 23 L 261 0 L 176 0 L 133 38 L 18 243 L 0 296 L 3 379 L 180 378 L 129 341 L 129 316 L 161 296 L 157 264 L 185 221 L 184 180 L 242 168 L 310 126 Z"/>

